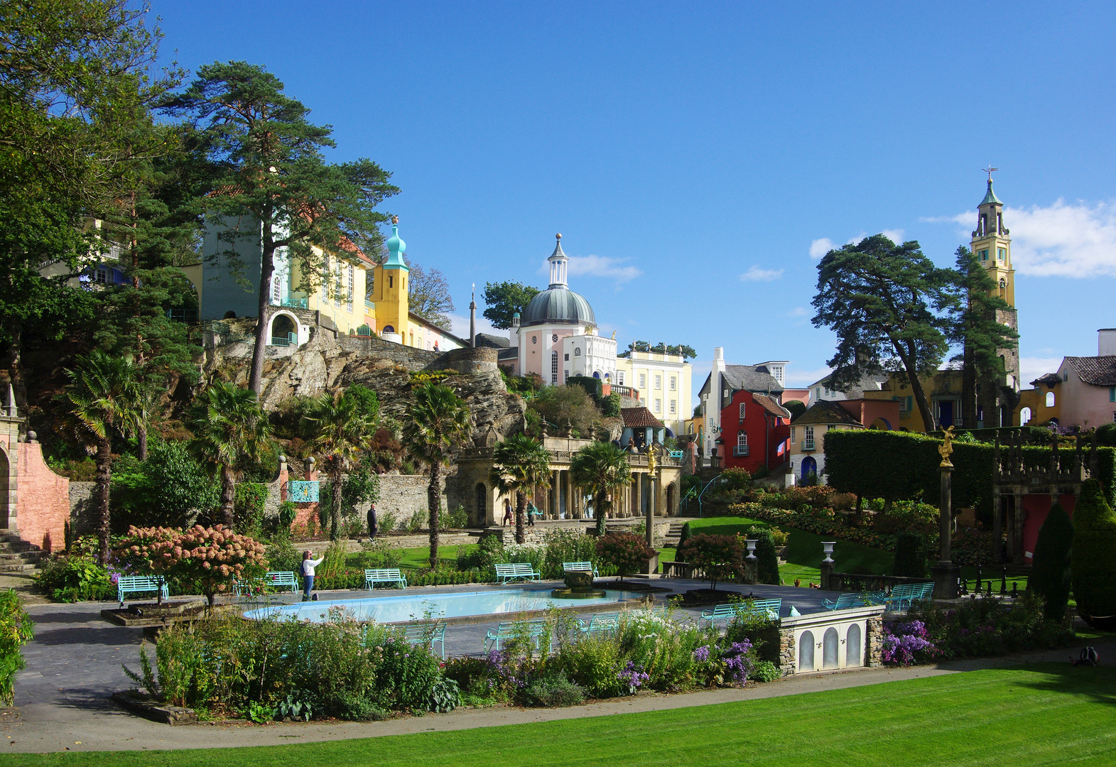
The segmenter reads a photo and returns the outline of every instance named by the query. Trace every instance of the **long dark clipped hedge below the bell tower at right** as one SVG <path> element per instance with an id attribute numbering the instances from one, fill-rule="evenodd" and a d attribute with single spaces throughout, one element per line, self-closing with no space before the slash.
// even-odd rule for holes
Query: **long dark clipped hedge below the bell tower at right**
<path id="1" fill-rule="evenodd" d="M 942 479 L 939 464 L 942 457 L 932 437 L 897 431 L 841 430 L 825 435 L 826 473 L 829 486 L 862 498 L 906 500 L 922 498 L 939 505 Z M 1001 447 L 1002 454 L 1007 448 Z M 1116 500 L 1116 448 L 1098 448 L 1097 477 L 1109 502 Z M 1075 450 L 1059 450 L 1062 466 L 1074 461 Z M 994 447 L 987 442 L 954 442 L 953 508 L 973 507 L 992 512 L 992 456 Z M 1023 456 L 1031 462 L 1048 466 L 1050 448 L 1024 447 Z M 1089 451 L 1084 452 L 1089 460 Z"/>

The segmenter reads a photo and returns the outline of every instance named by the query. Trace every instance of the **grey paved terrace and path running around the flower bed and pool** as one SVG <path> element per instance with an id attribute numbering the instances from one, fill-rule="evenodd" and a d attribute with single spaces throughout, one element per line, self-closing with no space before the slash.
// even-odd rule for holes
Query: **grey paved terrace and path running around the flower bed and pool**
<path id="1" fill-rule="evenodd" d="M 656 582 L 680 589 L 693 583 Z M 420 593 L 450 592 L 472 587 L 415 589 Z M 816 612 L 822 595 L 814 589 L 757 586 L 757 596 L 782 596 L 786 614 L 795 604 L 802 613 Z M 391 594 L 391 593 L 388 593 Z M 398 594 L 398 592 L 395 592 Z M 360 597 L 364 593 L 330 593 L 324 598 Z M 283 600 L 288 601 L 288 600 Z M 198 725 L 170 727 L 125 712 L 108 700 L 115 691 L 132 687 L 122 663 L 138 669 L 142 630 L 114 626 L 100 619 L 100 610 L 112 603 L 77 605 L 31 605 L 28 612 L 36 621 L 36 639 L 25 648 L 27 669 L 16 681 L 16 709 L 0 710 L 0 730 L 11 744 L 9 751 L 126 750 L 158 748 L 210 748 L 225 746 L 263 746 L 285 742 L 308 742 L 401 735 L 429 730 L 456 730 L 531 721 L 607 716 L 635 711 L 655 711 L 689 706 L 705 706 L 745 701 L 775 696 L 797 694 L 817 690 L 859 687 L 902 679 L 916 679 L 955 673 L 990 665 L 1036 660 L 971 661 L 964 663 L 921 667 L 915 669 L 863 669 L 857 671 L 792 677 L 778 682 L 743 690 L 723 689 L 681 696 L 641 694 L 566 709 L 491 709 L 459 710 L 448 715 L 401 718 L 384 722 L 277 723 L 268 727 L 249 725 Z M 698 611 L 686 611 L 696 613 Z M 446 630 L 446 653 L 477 654 L 481 650 L 488 624 L 451 625 Z M 1051 660 L 1065 660 L 1071 651 L 1048 653 Z M 1106 650 L 1105 655 L 1116 652 Z"/>

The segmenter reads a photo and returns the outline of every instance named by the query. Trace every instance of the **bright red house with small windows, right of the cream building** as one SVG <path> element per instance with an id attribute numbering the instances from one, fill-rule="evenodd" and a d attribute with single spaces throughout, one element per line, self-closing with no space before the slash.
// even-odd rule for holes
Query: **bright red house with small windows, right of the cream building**
<path id="1" fill-rule="evenodd" d="M 777 469 L 790 460 L 790 412 L 776 394 L 733 389 L 721 409 L 721 437 L 716 440 L 723 468 L 739 467 L 754 473 L 760 467 Z"/>

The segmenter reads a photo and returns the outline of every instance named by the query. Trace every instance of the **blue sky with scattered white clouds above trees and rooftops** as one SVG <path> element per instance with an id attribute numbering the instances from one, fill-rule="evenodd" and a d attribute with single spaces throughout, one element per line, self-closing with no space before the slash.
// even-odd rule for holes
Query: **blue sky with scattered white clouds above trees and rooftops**
<path id="1" fill-rule="evenodd" d="M 456 315 L 571 288 L 622 347 L 825 372 L 817 257 L 878 231 L 941 265 L 1001 170 L 1024 380 L 1116 326 L 1113 3 L 153 0 L 164 56 L 244 59 L 394 173 L 408 258 Z M 811 251 L 814 257 L 811 257 Z M 483 309 L 481 305 L 480 310 Z"/>

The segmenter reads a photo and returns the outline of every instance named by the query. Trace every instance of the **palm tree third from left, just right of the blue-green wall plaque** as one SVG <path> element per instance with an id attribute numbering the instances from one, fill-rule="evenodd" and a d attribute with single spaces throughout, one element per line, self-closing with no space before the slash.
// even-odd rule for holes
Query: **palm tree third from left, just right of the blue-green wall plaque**
<path id="1" fill-rule="evenodd" d="M 315 425 L 310 448 L 321 456 L 334 490 L 329 539 L 336 541 L 340 538 L 341 482 L 360 453 L 372 447 L 376 418 L 362 409 L 356 397 L 323 394 L 306 420 Z"/>

